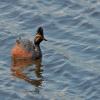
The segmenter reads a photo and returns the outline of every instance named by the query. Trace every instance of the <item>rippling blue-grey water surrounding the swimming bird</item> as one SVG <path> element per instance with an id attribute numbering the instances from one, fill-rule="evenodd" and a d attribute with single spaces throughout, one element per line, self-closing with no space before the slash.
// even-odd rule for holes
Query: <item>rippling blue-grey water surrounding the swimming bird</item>
<path id="1" fill-rule="evenodd" d="M 16 38 L 38 26 L 42 62 L 13 75 Z M 0 0 L 0 100 L 100 100 L 99 34 L 99 0 Z"/>

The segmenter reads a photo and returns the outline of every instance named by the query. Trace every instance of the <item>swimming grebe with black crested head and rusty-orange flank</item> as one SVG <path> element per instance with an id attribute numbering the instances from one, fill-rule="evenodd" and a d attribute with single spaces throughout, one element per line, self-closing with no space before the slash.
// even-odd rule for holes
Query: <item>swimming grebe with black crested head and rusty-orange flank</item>
<path id="1" fill-rule="evenodd" d="M 40 43 L 47 39 L 44 37 L 43 28 L 39 27 L 34 37 L 34 42 L 28 39 L 19 38 L 11 50 L 12 58 L 14 59 L 40 59 L 42 52 Z"/>

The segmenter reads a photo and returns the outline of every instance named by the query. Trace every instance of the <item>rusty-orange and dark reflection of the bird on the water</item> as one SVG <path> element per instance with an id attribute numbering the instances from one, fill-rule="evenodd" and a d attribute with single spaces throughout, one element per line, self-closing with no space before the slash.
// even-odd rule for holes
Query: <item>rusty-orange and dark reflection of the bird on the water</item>
<path id="1" fill-rule="evenodd" d="M 41 86 L 43 81 L 41 61 L 42 59 L 37 59 L 35 61 L 33 61 L 32 59 L 12 59 L 12 75 L 23 79 L 36 87 Z M 33 64 L 35 65 L 35 69 L 32 69 L 29 72 L 34 71 L 37 79 L 31 79 L 26 73 L 23 72 L 25 68 L 32 66 Z"/>

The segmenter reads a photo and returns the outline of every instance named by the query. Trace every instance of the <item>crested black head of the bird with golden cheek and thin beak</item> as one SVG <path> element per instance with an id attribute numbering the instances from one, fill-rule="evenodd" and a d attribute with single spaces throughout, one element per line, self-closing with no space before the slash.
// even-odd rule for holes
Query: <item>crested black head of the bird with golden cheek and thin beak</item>
<path id="1" fill-rule="evenodd" d="M 34 38 L 34 43 L 40 44 L 43 40 L 47 41 L 47 39 L 45 39 L 44 34 L 43 34 L 43 28 L 39 27 L 37 29 L 37 33 L 36 33 L 35 38 Z"/>

